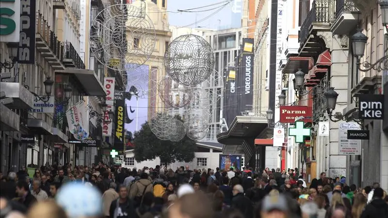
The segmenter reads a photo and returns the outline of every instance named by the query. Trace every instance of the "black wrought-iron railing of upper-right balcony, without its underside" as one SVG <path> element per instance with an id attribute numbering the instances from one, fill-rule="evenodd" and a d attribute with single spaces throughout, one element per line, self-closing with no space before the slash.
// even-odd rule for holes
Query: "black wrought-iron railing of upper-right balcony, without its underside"
<path id="1" fill-rule="evenodd" d="M 313 25 L 328 24 L 332 16 L 329 13 L 330 2 L 332 0 L 314 0 L 312 2 L 311 10 L 303 22 L 300 32 L 299 41 L 301 47 L 306 43 L 311 34 Z"/>

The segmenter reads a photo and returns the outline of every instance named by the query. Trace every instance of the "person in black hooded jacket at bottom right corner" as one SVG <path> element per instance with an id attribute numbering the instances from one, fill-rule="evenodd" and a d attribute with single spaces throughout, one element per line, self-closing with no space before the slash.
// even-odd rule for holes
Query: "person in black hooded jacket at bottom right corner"
<path id="1" fill-rule="evenodd" d="M 377 187 L 373 191 L 372 201 L 365 207 L 360 218 L 388 217 L 388 204 L 384 202 L 384 190 Z"/>

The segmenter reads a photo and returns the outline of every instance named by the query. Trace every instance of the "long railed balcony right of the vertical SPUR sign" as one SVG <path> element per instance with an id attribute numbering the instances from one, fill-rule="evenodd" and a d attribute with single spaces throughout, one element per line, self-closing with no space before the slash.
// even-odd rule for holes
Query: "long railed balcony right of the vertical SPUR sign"
<path id="1" fill-rule="evenodd" d="M 64 70 L 63 61 L 64 46 L 53 31 L 50 30 L 47 20 L 36 13 L 36 49 L 54 70 Z"/>

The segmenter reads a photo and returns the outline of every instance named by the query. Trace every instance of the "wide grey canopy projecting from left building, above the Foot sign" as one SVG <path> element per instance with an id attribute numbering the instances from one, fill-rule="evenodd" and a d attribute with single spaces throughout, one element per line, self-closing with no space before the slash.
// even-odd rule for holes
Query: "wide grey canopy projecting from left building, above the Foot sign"
<path id="1" fill-rule="evenodd" d="M 55 73 L 74 75 L 82 84 L 82 88 L 86 92 L 86 96 L 106 96 L 101 81 L 92 70 L 66 68 L 65 70 L 56 70 Z"/>

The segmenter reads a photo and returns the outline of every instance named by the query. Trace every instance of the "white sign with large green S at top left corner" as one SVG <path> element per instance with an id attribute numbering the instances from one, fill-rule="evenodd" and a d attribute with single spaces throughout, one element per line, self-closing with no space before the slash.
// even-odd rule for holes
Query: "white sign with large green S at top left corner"
<path id="1" fill-rule="evenodd" d="M 1 42 L 18 43 L 20 39 L 20 0 L 0 0 L 0 17 Z"/>

